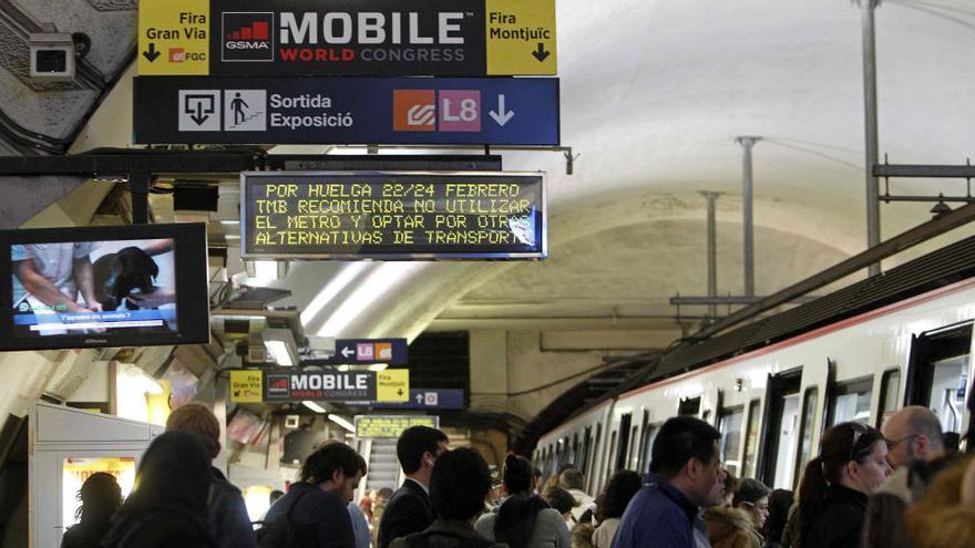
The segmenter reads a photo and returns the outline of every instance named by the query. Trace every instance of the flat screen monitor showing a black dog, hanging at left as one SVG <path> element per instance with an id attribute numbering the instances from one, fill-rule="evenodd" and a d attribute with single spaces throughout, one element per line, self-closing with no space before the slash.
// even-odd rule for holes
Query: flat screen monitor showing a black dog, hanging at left
<path id="1" fill-rule="evenodd" d="M 0 350 L 208 341 L 206 225 L 0 230 Z"/>

